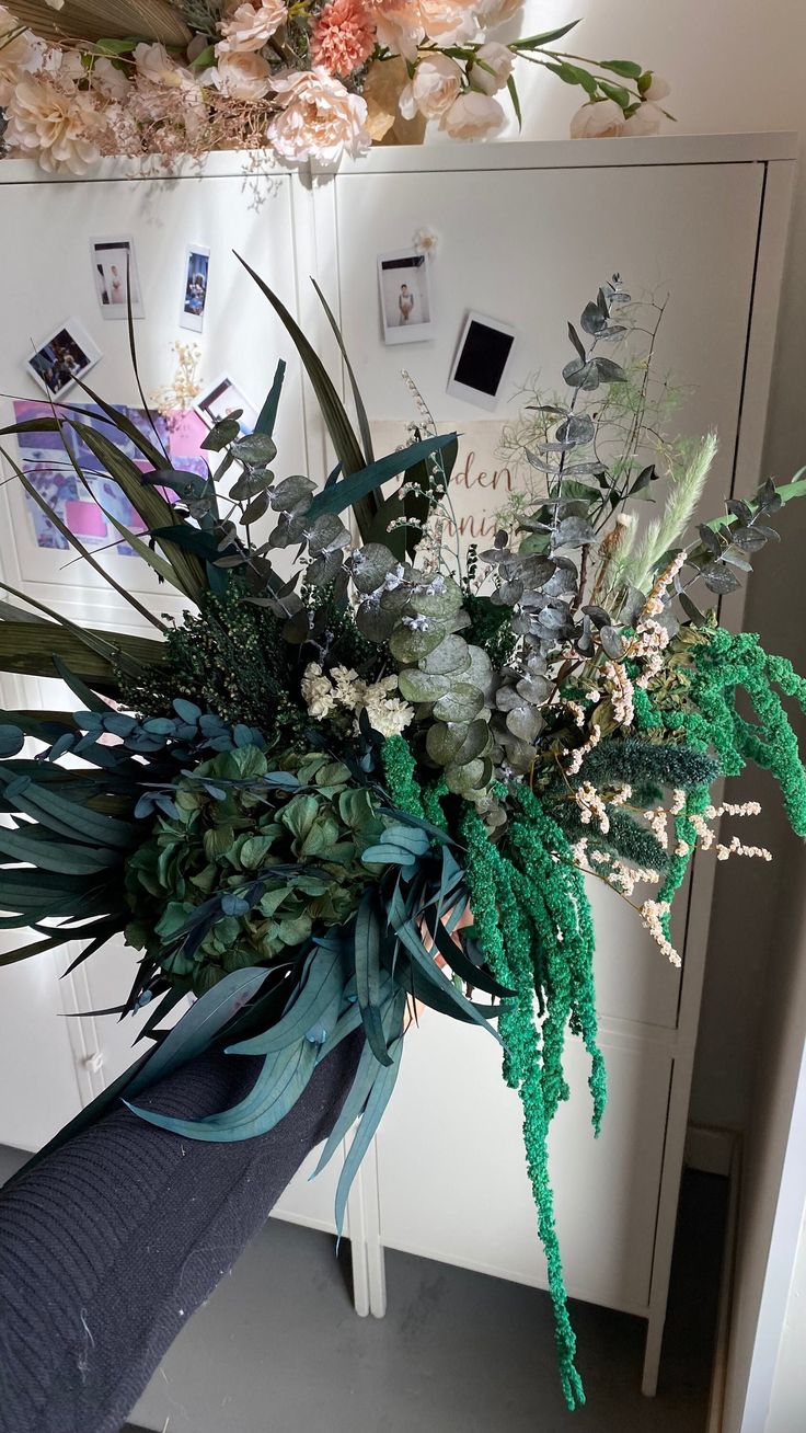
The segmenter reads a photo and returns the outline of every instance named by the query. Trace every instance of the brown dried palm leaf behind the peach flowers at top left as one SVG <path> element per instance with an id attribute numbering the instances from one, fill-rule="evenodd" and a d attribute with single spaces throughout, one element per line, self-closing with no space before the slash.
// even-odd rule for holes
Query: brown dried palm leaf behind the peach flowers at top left
<path id="1" fill-rule="evenodd" d="M 188 44 L 190 30 L 167 0 L 16 0 L 14 14 L 46 40 L 102 40 L 136 34 L 160 44 Z"/>

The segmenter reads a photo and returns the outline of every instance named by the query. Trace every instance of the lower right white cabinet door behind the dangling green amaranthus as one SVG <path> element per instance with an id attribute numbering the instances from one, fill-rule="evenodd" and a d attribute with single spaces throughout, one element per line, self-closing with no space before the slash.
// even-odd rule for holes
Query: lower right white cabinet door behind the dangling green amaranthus
<path id="1" fill-rule="evenodd" d="M 603 1036 L 608 1108 L 590 1126 L 587 1058 L 568 1037 L 571 1099 L 550 1135 L 568 1293 L 646 1310 L 671 1059 L 663 1045 Z M 378 1134 L 381 1242 L 545 1287 L 525 1172 L 521 1103 L 482 1030 L 427 1013 L 409 1032 Z"/>

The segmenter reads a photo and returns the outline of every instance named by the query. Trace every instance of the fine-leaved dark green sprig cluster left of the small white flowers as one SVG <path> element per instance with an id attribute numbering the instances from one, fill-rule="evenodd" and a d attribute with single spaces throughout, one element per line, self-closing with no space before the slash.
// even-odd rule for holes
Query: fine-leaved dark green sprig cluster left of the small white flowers
<path id="1" fill-rule="evenodd" d="M 205 593 L 166 636 L 165 666 L 140 679 L 120 674 L 123 701 L 143 716 L 163 716 L 176 696 L 209 708 L 226 724 L 259 727 L 272 745 L 289 747 L 306 727 L 299 691 L 299 649 L 282 638 L 282 620 L 232 586 Z"/>

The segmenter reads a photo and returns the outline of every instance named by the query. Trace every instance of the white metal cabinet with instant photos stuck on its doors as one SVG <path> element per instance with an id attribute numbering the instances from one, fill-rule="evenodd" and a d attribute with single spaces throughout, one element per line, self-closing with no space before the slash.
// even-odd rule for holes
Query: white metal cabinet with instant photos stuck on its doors
<path id="1" fill-rule="evenodd" d="M 464 315 L 511 322 L 517 344 L 498 417 L 518 411 L 515 387 L 541 371 L 553 384 L 567 358 L 565 322 L 613 271 L 631 291 L 667 297 L 659 370 L 687 385 L 680 428 L 716 426 L 720 453 L 710 506 L 760 477 L 793 146 L 789 136 L 511 143 L 374 150 L 362 163 L 312 182 L 286 172 L 243 178 L 219 155 L 200 176 L 127 178 L 107 165 L 92 183 L 57 182 L 23 163 L 0 166 L 0 218 L 14 285 L 3 294 L 0 391 L 34 388 L 20 367 L 29 337 L 74 314 L 103 350 L 92 383 L 110 401 L 137 404 L 125 324 L 103 322 L 89 239 L 135 238 L 146 322 L 136 337 L 146 391 L 170 381 L 188 244 L 210 249 L 209 301 L 199 335 L 202 377 L 226 373 L 253 406 L 276 360 L 288 360 L 278 430 L 285 473 L 322 476 L 321 423 L 292 347 L 242 254 L 281 294 L 338 370 L 338 351 L 308 275 L 339 317 L 375 426 L 412 417 L 405 367 L 441 424 L 467 428 L 478 410 L 448 398 L 445 383 Z M 431 287 L 434 337 L 385 347 L 378 254 L 438 235 Z M 33 241 L 31 241 L 33 236 Z M 4 413 L 9 411 L 6 404 Z M 461 487 L 461 479 L 460 479 Z M 460 493 L 464 510 L 491 516 L 490 477 Z M 99 626 L 120 620 L 120 599 L 64 553 L 36 546 L 13 486 L 0 490 L 0 577 Z M 142 565 L 107 555 L 117 580 L 178 613 Z M 740 600 L 729 599 L 733 622 Z M 126 620 L 130 622 L 127 612 Z M 19 684 L 6 694 L 20 701 Z M 29 698 L 30 699 L 30 698 Z M 707 941 L 712 871 L 699 863 L 679 913 L 680 976 L 611 893 L 591 890 L 598 1013 L 610 1103 L 601 1138 L 588 1121 L 587 1072 L 568 1042 L 573 1101 L 551 1135 L 557 1224 L 568 1290 L 649 1320 L 644 1387 L 660 1353 L 693 1048 Z M 3 940 L 9 934 L 4 933 Z M 0 970 L 0 1142 L 33 1148 L 129 1060 L 132 1026 L 109 1017 L 66 1020 L 63 1003 L 117 1005 L 132 957 L 119 944 L 56 983 L 64 956 Z M 87 1072 L 100 1052 L 103 1068 Z M 384 1308 L 382 1248 L 409 1250 L 543 1285 L 545 1271 L 524 1172 L 520 1103 L 502 1085 L 498 1050 L 480 1032 L 429 1015 L 407 1042 L 402 1072 L 377 1148 L 351 1204 L 359 1304 Z M 332 1228 L 336 1171 L 292 1182 L 276 1212 Z"/>

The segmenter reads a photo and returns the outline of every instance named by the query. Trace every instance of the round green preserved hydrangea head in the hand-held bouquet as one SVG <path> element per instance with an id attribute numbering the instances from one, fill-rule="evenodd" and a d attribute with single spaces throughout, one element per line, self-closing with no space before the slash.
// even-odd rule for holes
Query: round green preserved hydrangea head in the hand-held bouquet
<path id="1" fill-rule="evenodd" d="M 293 959 L 349 920 L 381 873 L 362 863 L 389 824 L 381 800 L 326 755 L 271 771 L 265 752 L 239 747 L 183 775 L 172 800 L 126 867 L 126 940 L 196 995 Z"/>

